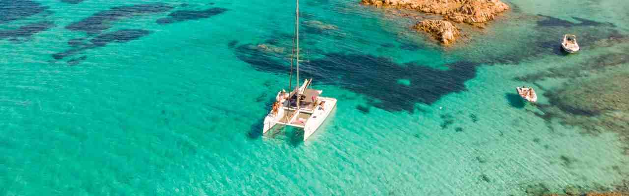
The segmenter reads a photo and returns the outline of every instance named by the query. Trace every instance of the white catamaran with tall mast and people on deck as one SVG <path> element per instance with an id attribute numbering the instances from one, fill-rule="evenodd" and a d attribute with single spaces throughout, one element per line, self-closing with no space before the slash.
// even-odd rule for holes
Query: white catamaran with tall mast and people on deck
<path id="1" fill-rule="evenodd" d="M 264 118 L 264 128 L 262 133 L 282 124 L 304 129 L 304 141 L 315 133 L 330 115 L 332 109 L 337 106 L 337 99 L 330 97 L 320 97 L 323 90 L 311 89 L 312 79 L 304 80 L 299 85 L 299 63 L 306 62 L 299 60 L 299 0 L 295 13 L 295 35 L 292 45 L 291 56 L 291 76 L 289 79 L 289 91 L 291 91 L 292 65 L 296 64 L 297 85 L 291 92 L 281 90 L 277 92 L 276 102 L 269 114 Z"/>

